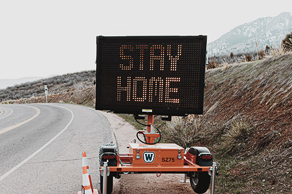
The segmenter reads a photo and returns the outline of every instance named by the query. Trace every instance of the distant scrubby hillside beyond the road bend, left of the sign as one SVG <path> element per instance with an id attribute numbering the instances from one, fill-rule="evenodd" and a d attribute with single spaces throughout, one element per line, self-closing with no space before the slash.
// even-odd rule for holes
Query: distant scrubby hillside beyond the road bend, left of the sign
<path id="1" fill-rule="evenodd" d="M 0 90 L 4 103 L 46 102 L 44 85 L 48 86 L 48 102 L 68 102 L 92 106 L 95 100 L 95 71 L 55 76 Z"/>

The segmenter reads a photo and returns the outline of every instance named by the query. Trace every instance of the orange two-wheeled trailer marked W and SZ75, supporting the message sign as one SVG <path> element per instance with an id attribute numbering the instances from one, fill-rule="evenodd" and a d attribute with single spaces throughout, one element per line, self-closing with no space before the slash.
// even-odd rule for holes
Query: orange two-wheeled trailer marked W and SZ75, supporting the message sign
<path id="1" fill-rule="evenodd" d="M 153 117 L 153 115 L 148 115 L 149 117 Z M 159 135 L 159 133 L 150 133 L 150 130 L 141 132 L 148 139 Z M 154 141 L 151 143 L 153 144 Z M 217 166 L 215 162 L 213 163 L 213 157 L 206 147 L 184 149 L 176 144 L 129 143 L 128 153 L 119 153 L 114 144 L 104 144 L 99 151 L 100 186 L 101 191 L 104 191 L 105 194 L 112 192 L 113 177 L 120 178 L 121 174 L 143 173 L 153 173 L 157 177 L 160 177 L 162 173 L 185 174 L 190 178 L 194 192 L 199 194 L 208 190 L 212 177 L 214 183 L 211 187 L 211 194 L 214 194 Z M 103 190 L 105 187 L 106 191 Z"/>

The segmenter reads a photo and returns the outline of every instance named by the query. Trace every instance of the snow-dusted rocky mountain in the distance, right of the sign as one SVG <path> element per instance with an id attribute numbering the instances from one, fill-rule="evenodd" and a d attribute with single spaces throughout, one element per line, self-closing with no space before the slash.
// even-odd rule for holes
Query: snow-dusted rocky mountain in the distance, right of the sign
<path id="1" fill-rule="evenodd" d="M 286 34 L 292 31 L 292 13 L 284 12 L 275 17 L 262 17 L 237 26 L 219 39 L 208 44 L 209 56 L 230 55 L 279 47 Z"/>

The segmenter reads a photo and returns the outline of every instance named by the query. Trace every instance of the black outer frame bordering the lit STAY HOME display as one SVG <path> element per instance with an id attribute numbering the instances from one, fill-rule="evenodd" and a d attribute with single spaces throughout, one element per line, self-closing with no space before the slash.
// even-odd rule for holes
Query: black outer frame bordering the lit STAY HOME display
<path id="1" fill-rule="evenodd" d="M 182 40 L 190 42 L 201 43 L 201 58 L 200 58 L 200 83 L 198 87 L 199 97 L 197 108 L 176 108 L 176 107 L 151 107 L 143 105 L 134 106 L 117 106 L 117 105 L 106 105 L 101 103 L 102 95 L 101 88 L 101 75 L 103 73 L 102 64 L 102 45 L 106 43 L 117 42 L 138 42 L 138 43 L 152 43 L 153 41 L 167 42 L 173 40 Z M 155 115 L 168 115 L 168 116 L 186 116 L 187 114 L 202 114 L 203 113 L 203 93 L 204 93 L 204 79 L 205 79 L 205 62 L 206 62 L 206 45 L 207 36 L 97 36 L 96 37 L 96 110 L 108 110 L 114 113 L 131 113 L 131 114 L 155 114 Z M 146 111 L 145 111 L 146 110 Z"/>

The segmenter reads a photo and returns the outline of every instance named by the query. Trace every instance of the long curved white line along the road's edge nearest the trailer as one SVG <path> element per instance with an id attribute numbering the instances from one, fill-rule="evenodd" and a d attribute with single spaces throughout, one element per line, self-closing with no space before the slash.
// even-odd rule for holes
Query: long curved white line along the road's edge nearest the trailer
<path id="1" fill-rule="evenodd" d="M 53 105 L 50 104 L 51 106 L 58 106 L 58 105 Z M 58 106 L 58 107 L 62 107 L 62 106 Z M 62 107 L 64 109 L 67 109 L 65 107 Z M 7 173 L 5 173 L 4 175 L 2 175 L 0 177 L 0 181 L 3 180 L 4 178 L 6 178 L 8 175 L 10 175 L 11 173 L 13 173 L 15 170 L 17 170 L 20 166 L 22 166 L 23 164 L 25 164 L 27 161 L 29 161 L 30 159 L 32 159 L 34 156 L 36 156 L 41 150 L 43 150 L 46 146 L 48 146 L 49 144 L 51 144 L 59 135 L 61 135 L 72 123 L 73 118 L 74 118 L 74 114 L 70 109 L 67 109 L 68 111 L 71 112 L 72 117 L 71 120 L 69 121 L 69 123 L 66 125 L 66 127 L 61 130 L 55 137 L 53 137 L 48 143 L 46 143 L 45 145 L 43 145 L 41 148 L 39 148 L 35 153 L 33 153 L 32 155 L 30 155 L 27 159 L 25 159 L 24 161 L 20 162 L 18 165 L 16 165 L 14 168 L 12 168 L 11 170 L 9 170 Z"/>

